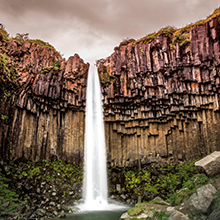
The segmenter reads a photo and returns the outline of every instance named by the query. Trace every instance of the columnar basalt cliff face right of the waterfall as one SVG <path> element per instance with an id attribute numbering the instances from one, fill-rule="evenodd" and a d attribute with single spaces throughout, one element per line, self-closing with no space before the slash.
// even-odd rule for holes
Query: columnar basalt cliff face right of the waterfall
<path id="1" fill-rule="evenodd" d="M 220 20 L 213 17 L 122 42 L 97 62 L 111 166 L 220 150 Z"/>

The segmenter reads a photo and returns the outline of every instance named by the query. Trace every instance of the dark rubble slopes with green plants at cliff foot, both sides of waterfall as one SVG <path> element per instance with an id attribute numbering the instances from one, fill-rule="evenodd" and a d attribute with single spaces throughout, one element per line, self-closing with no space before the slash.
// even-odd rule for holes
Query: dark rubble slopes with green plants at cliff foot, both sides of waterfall
<path id="1" fill-rule="evenodd" d="M 109 196 L 133 206 L 156 196 L 167 199 L 197 174 L 194 162 L 108 169 Z M 74 213 L 82 198 L 83 169 L 61 160 L 0 162 L 2 219 L 50 219 Z"/>

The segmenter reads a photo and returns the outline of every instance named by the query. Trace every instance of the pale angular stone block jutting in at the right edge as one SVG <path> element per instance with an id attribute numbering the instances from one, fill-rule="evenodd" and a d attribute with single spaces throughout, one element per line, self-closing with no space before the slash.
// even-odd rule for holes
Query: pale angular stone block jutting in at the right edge
<path id="1" fill-rule="evenodd" d="M 205 172 L 208 176 L 220 174 L 220 151 L 214 151 L 210 155 L 195 162 L 199 171 Z"/>

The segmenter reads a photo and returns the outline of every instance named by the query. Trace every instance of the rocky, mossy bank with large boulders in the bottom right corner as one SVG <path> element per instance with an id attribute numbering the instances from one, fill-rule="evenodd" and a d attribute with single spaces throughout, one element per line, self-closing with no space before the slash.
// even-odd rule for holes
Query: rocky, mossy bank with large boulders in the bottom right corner
<path id="1" fill-rule="evenodd" d="M 220 219 L 220 152 L 196 163 L 200 174 L 183 183 L 164 201 L 156 197 L 137 203 L 120 220 L 218 220 Z"/>

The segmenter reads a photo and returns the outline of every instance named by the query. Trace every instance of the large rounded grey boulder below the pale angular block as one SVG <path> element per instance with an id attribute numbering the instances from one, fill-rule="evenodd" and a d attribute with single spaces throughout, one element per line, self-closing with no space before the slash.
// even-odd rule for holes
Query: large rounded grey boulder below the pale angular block
<path id="1" fill-rule="evenodd" d="M 198 188 L 187 201 L 189 211 L 191 213 L 208 213 L 214 199 L 213 194 L 216 192 L 217 190 L 211 184 Z"/>

